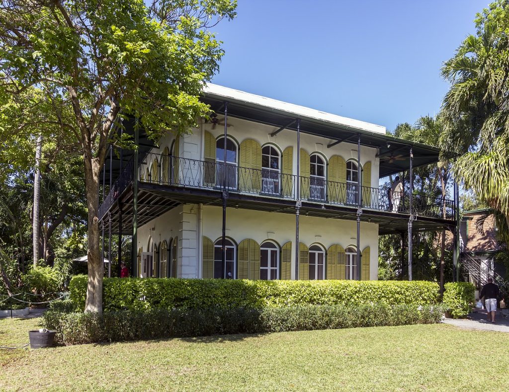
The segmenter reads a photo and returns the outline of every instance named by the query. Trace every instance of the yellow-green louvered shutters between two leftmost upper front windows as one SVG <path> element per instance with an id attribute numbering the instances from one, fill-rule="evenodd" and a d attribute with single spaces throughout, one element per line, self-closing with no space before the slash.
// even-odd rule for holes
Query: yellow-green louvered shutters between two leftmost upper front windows
<path id="1" fill-rule="evenodd" d="M 262 147 L 253 139 L 240 143 L 239 189 L 259 193 L 262 189 Z"/>

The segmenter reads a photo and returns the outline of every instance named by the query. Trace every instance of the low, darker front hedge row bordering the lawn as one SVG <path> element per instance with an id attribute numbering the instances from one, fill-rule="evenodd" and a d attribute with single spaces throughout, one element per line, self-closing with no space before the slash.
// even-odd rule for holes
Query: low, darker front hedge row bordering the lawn
<path id="1" fill-rule="evenodd" d="M 43 324 L 60 344 L 193 337 L 224 334 L 437 323 L 441 306 L 307 305 L 264 309 L 156 309 L 98 313 L 49 310 Z"/>

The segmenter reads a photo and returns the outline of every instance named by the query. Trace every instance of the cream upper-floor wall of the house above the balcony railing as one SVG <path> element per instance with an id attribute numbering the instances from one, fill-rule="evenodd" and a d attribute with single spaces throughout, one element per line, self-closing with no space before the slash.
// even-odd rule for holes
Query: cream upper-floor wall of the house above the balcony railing
<path id="1" fill-rule="evenodd" d="M 263 147 L 266 144 L 272 144 L 278 147 L 282 152 L 286 147 L 293 146 L 293 174 L 297 174 L 297 136 L 295 131 L 283 130 L 276 136 L 270 136 L 277 127 L 271 127 L 264 124 L 258 124 L 239 118 L 228 118 L 228 136 L 236 141 L 237 147 L 240 146 L 245 139 L 254 139 Z M 223 126 L 218 125 L 212 129 L 210 123 L 193 128 L 190 134 L 182 135 L 179 140 L 179 156 L 186 159 L 194 159 L 202 161 L 204 158 L 204 130 L 209 131 L 215 138 L 219 138 L 224 133 Z M 305 131 L 305 130 L 303 130 Z M 169 134 L 159 141 L 159 147 L 153 148 L 152 153 L 161 154 L 164 147 L 171 150 L 175 135 Z M 342 142 L 327 148 L 330 139 L 325 139 L 315 135 L 309 135 L 301 132 L 300 146 L 308 154 L 320 153 L 326 158 L 326 161 L 334 156 L 340 155 L 348 161 L 350 159 L 357 160 L 357 143 Z M 361 146 L 360 164 L 363 166 L 366 162 L 371 162 L 371 187 L 378 188 L 379 182 L 379 160 L 376 158 L 376 148 Z M 148 162 L 150 167 L 151 162 Z"/>

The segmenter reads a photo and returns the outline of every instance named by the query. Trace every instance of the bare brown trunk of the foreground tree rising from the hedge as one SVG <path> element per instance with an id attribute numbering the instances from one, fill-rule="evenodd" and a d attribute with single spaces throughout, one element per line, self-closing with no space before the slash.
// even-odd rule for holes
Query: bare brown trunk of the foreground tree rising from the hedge
<path id="1" fill-rule="evenodd" d="M 91 153 L 85 153 L 84 167 L 87 206 L 89 210 L 89 226 L 87 231 L 89 281 L 85 312 L 102 313 L 104 261 L 102 257 L 99 257 L 99 206 L 97 199 L 100 172 L 99 160 L 93 159 Z"/>

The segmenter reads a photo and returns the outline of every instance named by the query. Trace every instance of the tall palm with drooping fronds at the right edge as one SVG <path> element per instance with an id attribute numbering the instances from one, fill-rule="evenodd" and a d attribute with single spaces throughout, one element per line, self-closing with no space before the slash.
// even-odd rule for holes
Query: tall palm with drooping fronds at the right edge
<path id="1" fill-rule="evenodd" d="M 451 83 L 442 105 L 440 145 L 460 154 L 453 165 L 465 189 L 498 210 L 498 234 L 509 234 L 509 1 L 492 3 L 475 19 L 469 35 L 444 63 Z"/>

